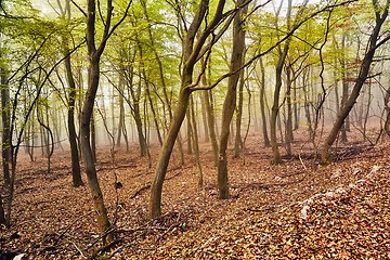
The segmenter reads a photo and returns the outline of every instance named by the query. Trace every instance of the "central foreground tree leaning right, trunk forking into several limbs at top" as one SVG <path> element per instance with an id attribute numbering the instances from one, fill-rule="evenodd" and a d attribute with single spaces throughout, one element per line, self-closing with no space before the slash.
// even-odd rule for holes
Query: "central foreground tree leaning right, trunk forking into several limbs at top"
<path id="1" fill-rule="evenodd" d="M 208 52 L 212 44 L 206 46 L 204 44 L 207 38 L 214 32 L 214 29 L 224 22 L 226 17 L 229 17 L 231 13 L 224 14 L 223 8 L 225 5 L 224 0 L 219 0 L 217 4 L 217 9 L 212 20 L 207 23 L 206 27 L 202 32 L 199 32 L 200 25 L 208 14 L 209 9 L 209 1 L 208 0 L 200 0 L 196 12 L 193 16 L 193 21 L 190 24 L 190 27 L 185 31 L 185 37 L 182 44 L 182 69 L 181 69 L 181 87 L 178 96 L 178 103 L 174 108 L 173 118 L 171 120 L 169 130 L 165 138 L 162 147 L 160 150 L 158 161 L 155 170 L 155 177 L 152 182 L 151 187 L 151 197 L 150 197 L 150 217 L 152 219 L 158 218 L 161 216 L 161 192 L 162 192 L 162 183 L 165 176 L 167 173 L 167 168 L 169 164 L 169 159 L 172 153 L 172 148 L 174 145 L 174 141 L 179 134 L 180 127 L 184 120 L 186 109 L 188 107 L 188 100 L 191 92 L 196 90 L 196 84 L 193 80 L 193 72 L 195 64 L 199 61 L 199 58 Z M 227 21 L 229 22 L 229 21 Z M 227 23 L 226 22 L 226 23 Z M 224 31 L 225 29 L 223 29 Z M 199 32 L 198 37 L 196 35 Z M 197 41 L 195 39 L 197 38 Z M 200 80 L 200 78 L 198 79 Z"/>

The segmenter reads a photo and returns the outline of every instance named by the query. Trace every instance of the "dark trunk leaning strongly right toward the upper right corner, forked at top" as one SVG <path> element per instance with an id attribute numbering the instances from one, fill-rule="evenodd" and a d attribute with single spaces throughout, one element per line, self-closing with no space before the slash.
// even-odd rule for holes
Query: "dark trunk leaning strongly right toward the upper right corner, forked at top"
<path id="1" fill-rule="evenodd" d="M 388 40 L 390 40 L 390 37 L 387 37 L 385 39 L 381 39 L 379 41 L 379 43 L 377 43 L 377 41 L 379 40 L 378 37 L 380 34 L 380 28 L 381 28 L 382 24 L 385 23 L 387 16 L 388 16 L 388 13 L 389 13 L 389 4 L 386 4 L 384 6 L 384 9 L 380 9 L 378 1 L 374 0 L 373 5 L 374 5 L 375 15 L 376 15 L 375 27 L 373 28 L 373 31 L 369 36 L 368 47 L 365 52 L 364 58 L 362 61 L 360 72 L 359 72 L 356 81 L 353 86 L 351 95 L 347 100 L 346 105 L 340 109 L 340 113 L 336 119 L 336 122 L 334 123 L 334 126 L 323 145 L 322 153 L 321 153 L 321 159 L 324 164 L 328 164 L 329 161 L 332 161 L 330 147 L 334 144 L 334 142 L 336 141 L 337 135 L 338 135 L 347 116 L 349 115 L 350 110 L 352 109 L 353 105 L 355 104 L 355 102 L 359 98 L 359 94 L 361 92 L 361 89 L 362 89 L 365 80 L 368 77 L 369 68 L 370 68 L 370 64 L 373 63 L 373 60 L 374 60 L 375 51 L 380 46 L 385 44 Z M 381 10 L 384 10 L 382 14 L 380 14 Z"/>

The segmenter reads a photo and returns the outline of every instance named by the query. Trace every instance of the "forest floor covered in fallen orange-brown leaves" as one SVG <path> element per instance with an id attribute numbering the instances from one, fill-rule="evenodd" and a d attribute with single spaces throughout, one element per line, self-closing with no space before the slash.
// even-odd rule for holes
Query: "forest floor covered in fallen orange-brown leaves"
<path id="1" fill-rule="evenodd" d="M 303 140 L 304 133 L 297 134 Z M 209 144 L 203 144 L 204 186 L 193 155 L 170 162 L 162 217 L 150 221 L 154 167 L 147 158 L 109 147 L 98 152 L 98 173 L 115 245 L 103 248 L 88 187 L 72 187 L 68 152 L 47 160 L 22 156 L 12 226 L 0 231 L 0 255 L 29 259 L 390 259 L 390 147 L 339 143 L 322 167 L 310 143 L 270 165 L 271 148 L 249 136 L 244 156 L 229 157 L 231 198 L 219 200 Z M 158 147 L 152 150 L 156 161 Z M 281 148 L 281 152 L 285 152 Z M 232 151 L 229 152 L 232 155 Z M 84 179 L 84 176 L 83 176 Z M 122 187 L 115 188 L 118 181 Z M 106 250 L 105 250 L 106 249 Z"/>

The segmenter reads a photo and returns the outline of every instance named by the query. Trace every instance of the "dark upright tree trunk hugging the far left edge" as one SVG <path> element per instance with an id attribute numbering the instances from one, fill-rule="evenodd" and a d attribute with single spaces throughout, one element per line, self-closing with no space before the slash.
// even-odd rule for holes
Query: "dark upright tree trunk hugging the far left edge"
<path id="1" fill-rule="evenodd" d="M 11 107 L 10 107 L 10 89 L 6 86 L 5 69 L 0 67 L 1 77 L 1 122 L 2 122 L 2 168 L 4 184 L 10 185 L 10 162 L 11 162 L 11 132 L 10 132 L 10 119 L 11 119 Z M 1 200 L 0 200 L 1 203 Z"/>

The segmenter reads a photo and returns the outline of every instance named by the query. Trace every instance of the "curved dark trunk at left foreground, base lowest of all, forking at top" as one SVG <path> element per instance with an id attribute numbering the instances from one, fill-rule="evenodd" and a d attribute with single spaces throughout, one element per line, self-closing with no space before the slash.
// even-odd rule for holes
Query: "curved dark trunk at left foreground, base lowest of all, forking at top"
<path id="1" fill-rule="evenodd" d="M 81 126 L 80 126 L 80 140 L 81 152 L 86 164 L 86 172 L 88 186 L 91 193 L 94 209 L 96 210 L 98 225 L 103 233 L 103 244 L 109 244 L 114 239 L 114 235 L 109 232 L 110 223 L 107 216 L 107 210 L 104 205 L 102 190 L 100 187 L 99 179 L 96 176 L 95 160 L 92 153 L 90 134 L 91 134 L 91 118 L 93 113 L 94 100 L 99 88 L 100 78 L 100 60 L 106 47 L 107 40 L 113 35 L 115 29 L 120 25 L 127 16 L 131 1 L 126 8 L 123 16 L 112 26 L 113 17 L 113 1 L 107 0 L 106 16 L 102 40 L 96 46 L 95 40 L 95 24 L 96 24 L 96 3 L 94 0 L 88 0 L 87 10 L 87 46 L 88 46 L 88 89 L 84 94 L 83 105 L 81 110 Z"/>

